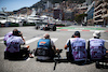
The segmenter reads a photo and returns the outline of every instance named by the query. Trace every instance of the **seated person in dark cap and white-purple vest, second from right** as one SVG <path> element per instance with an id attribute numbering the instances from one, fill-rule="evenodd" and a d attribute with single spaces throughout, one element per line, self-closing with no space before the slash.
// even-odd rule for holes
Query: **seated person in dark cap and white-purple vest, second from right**
<path id="1" fill-rule="evenodd" d="M 76 31 L 65 45 L 67 59 L 69 61 L 86 61 L 85 40 L 80 38 L 80 32 Z"/>

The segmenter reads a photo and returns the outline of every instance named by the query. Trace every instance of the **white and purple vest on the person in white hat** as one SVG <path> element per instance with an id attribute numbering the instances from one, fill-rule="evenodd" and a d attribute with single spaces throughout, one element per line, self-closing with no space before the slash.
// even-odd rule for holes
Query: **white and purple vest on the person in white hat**
<path id="1" fill-rule="evenodd" d="M 90 55 L 92 59 L 102 59 L 106 55 L 105 41 L 102 39 L 90 39 Z"/>

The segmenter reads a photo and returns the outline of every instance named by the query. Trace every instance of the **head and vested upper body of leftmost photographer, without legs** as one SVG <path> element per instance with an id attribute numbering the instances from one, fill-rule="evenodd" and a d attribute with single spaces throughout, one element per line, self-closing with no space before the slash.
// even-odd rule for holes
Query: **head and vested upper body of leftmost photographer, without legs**
<path id="1" fill-rule="evenodd" d="M 21 45 L 25 44 L 22 37 L 17 37 L 18 30 L 13 30 L 13 35 L 6 40 L 6 49 L 5 52 L 15 53 L 19 52 Z"/>

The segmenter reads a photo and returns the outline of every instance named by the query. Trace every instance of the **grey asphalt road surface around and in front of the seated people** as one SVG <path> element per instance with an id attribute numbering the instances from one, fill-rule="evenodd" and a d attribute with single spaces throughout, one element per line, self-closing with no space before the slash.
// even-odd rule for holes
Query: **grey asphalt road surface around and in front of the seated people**
<path id="1" fill-rule="evenodd" d="M 36 30 L 35 26 L 30 27 L 4 27 L 0 28 L 0 38 L 3 37 L 5 33 L 12 31 L 14 28 L 17 28 L 23 32 L 25 40 L 31 40 L 33 38 L 42 38 L 44 33 L 50 33 L 51 39 L 57 39 L 54 43 L 56 47 L 62 48 L 63 53 L 60 54 L 62 57 L 66 57 L 66 49 L 64 46 L 69 38 L 73 34 L 73 31 L 42 31 Z M 93 38 L 93 32 L 81 31 L 81 38 L 87 40 Z M 108 32 L 102 32 L 100 39 L 108 40 Z M 1 42 L 2 40 L 0 40 Z M 37 47 L 38 40 L 29 43 L 30 49 Z M 108 49 L 108 42 L 106 42 L 105 46 Z M 36 61 L 35 58 L 30 58 L 27 60 L 4 60 L 3 52 L 4 52 L 4 44 L 0 43 L 0 72 L 108 72 L 108 69 L 96 69 L 95 63 L 84 64 L 84 66 L 77 66 L 70 62 L 60 62 L 56 66 L 56 70 L 53 71 L 54 62 L 39 62 Z"/>

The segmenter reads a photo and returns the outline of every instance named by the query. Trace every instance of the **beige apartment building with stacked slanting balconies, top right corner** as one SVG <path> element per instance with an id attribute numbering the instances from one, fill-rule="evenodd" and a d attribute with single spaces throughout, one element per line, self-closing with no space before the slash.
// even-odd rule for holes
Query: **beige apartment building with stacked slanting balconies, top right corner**
<path id="1" fill-rule="evenodd" d="M 108 26 L 108 0 L 96 1 L 94 9 L 94 25 Z"/>

